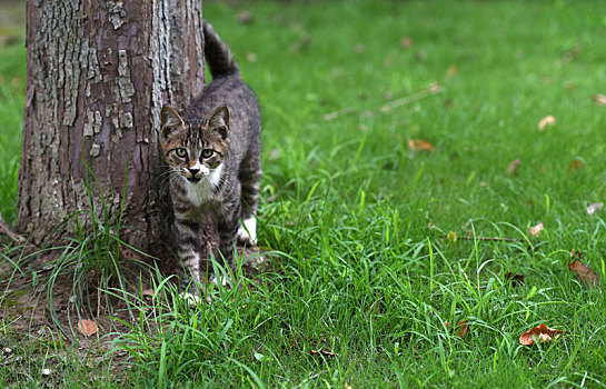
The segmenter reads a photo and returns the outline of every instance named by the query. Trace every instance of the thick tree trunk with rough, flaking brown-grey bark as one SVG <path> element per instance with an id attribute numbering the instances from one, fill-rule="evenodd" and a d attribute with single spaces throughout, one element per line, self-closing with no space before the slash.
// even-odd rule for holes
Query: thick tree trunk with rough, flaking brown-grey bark
<path id="1" fill-rule="evenodd" d="M 123 201 L 127 241 L 149 250 L 171 217 L 160 108 L 182 108 L 205 84 L 201 0 L 29 0 L 26 42 L 18 231 L 36 245 L 64 236 L 91 193 L 100 217 Z"/>

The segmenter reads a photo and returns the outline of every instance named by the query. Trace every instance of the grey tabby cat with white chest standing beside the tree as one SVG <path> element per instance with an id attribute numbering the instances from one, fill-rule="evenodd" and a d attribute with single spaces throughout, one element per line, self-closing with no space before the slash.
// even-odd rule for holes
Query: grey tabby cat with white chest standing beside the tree
<path id="1" fill-rule="evenodd" d="M 219 243 L 213 251 L 223 267 L 234 269 L 236 241 L 256 245 L 261 176 L 257 97 L 242 81 L 227 44 L 208 22 L 202 28 L 212 81 L 182 116 L 169 106 L 160 111 L 159 137 L 170 170 L 181 283 L 189 296 L 199 296 L 196 282 L 201 281 L 202 270 L 218 282 L 205 249 L 208 242 L 202 241 L 203 228 L 217 229 Z M 226 285 L 225 279 L 220 282 Z"/>

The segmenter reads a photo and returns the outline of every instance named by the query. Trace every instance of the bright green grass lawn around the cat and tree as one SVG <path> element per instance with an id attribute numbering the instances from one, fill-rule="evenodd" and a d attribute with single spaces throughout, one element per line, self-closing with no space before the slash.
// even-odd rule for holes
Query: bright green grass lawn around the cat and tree
<path id="1" fill-rule="evenodd" d="M 139 307 L 113 335 L 133 366 L 121 379 L 604 387 L 603 286 L 585 288 L 567 265 L 575 249 L 606 278 L 605 211 L 586 212 L 605 198 L 606 107 L 593 99 L 606 93 L 605 14 L 592 1 L 205 2 L 261 102 L 259 239 L 280 255 L 193 309 L 161 277 L 151 301 L 108 287 Z M 0 211 L 13 221 L 23 98 L 6 80 L 22 80 L 24 57 L 0 50 L 14 61 L 0 68 Z M 539 131 L 548 114 L 556 124 Z M 411 139 L 435 150 L 414 152 Z M 445 325 L 459 320 L 463 339 Z M 563 338 L 520 346 L 542 322 Z M 28 382 L 44 382 L 48 348 L 28 347 L 41 350 Z M 58 369 L 90 372 L 72 363 Z M 96 386 L 115 382 L 108 369 Z"/>

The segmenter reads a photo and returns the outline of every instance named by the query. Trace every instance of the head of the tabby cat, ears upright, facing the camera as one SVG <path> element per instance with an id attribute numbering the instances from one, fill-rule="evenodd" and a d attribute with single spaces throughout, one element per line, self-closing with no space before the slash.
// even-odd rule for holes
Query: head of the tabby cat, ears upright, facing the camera
<path id="1" fill-rule="evenodd" d="M 185 120 L 172 108 L 160 111 L 160 144 L 168 164 L 191 183 L 217 171 L 229 148 L 229 110 L 221 106 L 207 120 Z"/>

